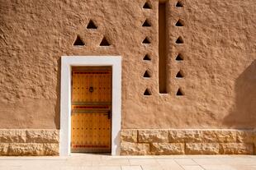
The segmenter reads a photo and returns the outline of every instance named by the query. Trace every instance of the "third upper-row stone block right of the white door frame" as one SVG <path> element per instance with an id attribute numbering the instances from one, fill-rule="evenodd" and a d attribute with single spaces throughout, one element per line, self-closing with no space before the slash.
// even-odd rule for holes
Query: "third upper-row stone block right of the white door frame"
<path id="1" fill-rule="evenodd" d="M 197 130 L 169 130 L 168 140 L 172 143 L 192 143 L 201 142 L 202 133 Z"/>

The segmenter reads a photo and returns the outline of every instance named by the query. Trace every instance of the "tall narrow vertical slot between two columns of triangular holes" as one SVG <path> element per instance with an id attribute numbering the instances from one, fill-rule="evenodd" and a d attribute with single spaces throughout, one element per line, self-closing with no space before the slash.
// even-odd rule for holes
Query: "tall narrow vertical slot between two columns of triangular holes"
<path id="1" fill-rule="evenodd" d="M 167 7 L 167 2 L 159 1 L 159 93 L 160 94 L 167 94 L 166 7 Z"/>

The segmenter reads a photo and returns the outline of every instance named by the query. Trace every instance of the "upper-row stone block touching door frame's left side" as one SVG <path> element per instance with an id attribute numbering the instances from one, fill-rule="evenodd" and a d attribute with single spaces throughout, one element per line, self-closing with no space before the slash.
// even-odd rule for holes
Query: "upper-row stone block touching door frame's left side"
<path id="1" fill-rule="evenodd" d="M 59 143 L 59 130 L 26 130 L 27 143 Z"/>

